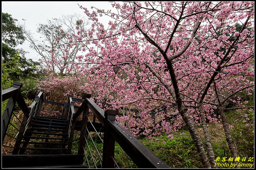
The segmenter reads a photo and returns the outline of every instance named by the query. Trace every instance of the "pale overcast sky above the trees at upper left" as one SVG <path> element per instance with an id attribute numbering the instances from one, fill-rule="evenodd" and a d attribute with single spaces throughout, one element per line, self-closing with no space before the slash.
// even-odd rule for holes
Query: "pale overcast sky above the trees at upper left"
<path id="1" fill-rule="evenodd" d="M 38 23 L 46 23 L 47 19 L 59 18 L 62 15 L 72 15 L 72 14 L 84 14 L 83 10 L 79 8 L 79 5 L 88 8 L 88 10 L 92 10 L 90 7 L 94 6 L 96 8 L 101 9 L 110 9 L 111 3 L 98 1 L 98 2 L 85 2 L 85 1 L 68 1 L 68 2 L 9 2 L 2 1 L 2 12 L 11 14 L 13 18 L 18 19 L 20 23 L 23 23 L 22 19 L 26 19 L 26 28 L 30 30 L 31 33 L 34 33 L 34 38 L 37 38 L 36 28 Z M 105 21 L 107 23 L 108 21 Z M 20 46 L 19 46 L 20 47 Z M 32 58 L 33 60 L 37 60 L 40 57 L 36 52 L 33 52 L 32 49 L 29 48 L 29 43 L 24 42 L 21 46 L 25 51 L 29 52 L 26 54 L 27 58 Z"/>

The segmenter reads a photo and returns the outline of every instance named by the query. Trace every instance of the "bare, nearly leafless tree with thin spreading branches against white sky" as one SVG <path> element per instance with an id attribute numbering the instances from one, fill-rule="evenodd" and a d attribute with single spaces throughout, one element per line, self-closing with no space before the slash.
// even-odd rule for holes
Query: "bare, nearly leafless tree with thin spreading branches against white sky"
<path id="1" fill-rule="evenodd" d="M 87 36 L 88 22 L 84 21 L 85 18 L 77 14 L 49 19 L 46 24 L 39 24 L 37 28 L 37 32 L 41 35 L 40 40 L 32 37 L 31 33 L 25 29 L 24 23 L 23 30 L 27 40 L 31 43 L 30 47 L 42 57 L 40 61 L 46 63 L 49 72 L 61 76 L 69 74 L 74 67 L 75 60 L 81 61 L 77 55 L 86 46 L 83 42 L 79 42 Z M 82 38 L 74 40 L 77 34 L 80 34 Z M 73 42 L 72 46 L 70 42 Z M 56 63 L 56 61 L 59 62 Z"/>

